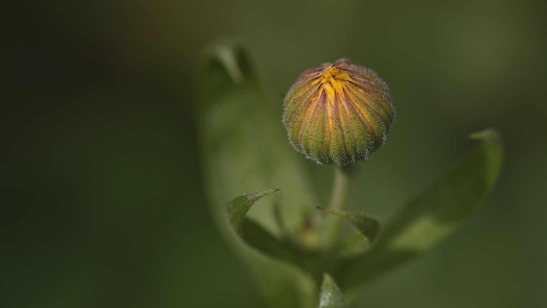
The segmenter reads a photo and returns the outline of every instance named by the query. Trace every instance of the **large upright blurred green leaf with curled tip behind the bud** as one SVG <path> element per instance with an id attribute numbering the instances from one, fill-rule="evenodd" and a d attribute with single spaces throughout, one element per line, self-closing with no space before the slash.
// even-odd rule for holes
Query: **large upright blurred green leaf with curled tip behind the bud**
<path id="1" fill-rule="evenodd" d="M 226 217 L 228 200 L 265 187 L 283 188 L 277 194 L 283 200 L 279 210 L 288 230 L 298 229 L 305 209 L 316 204 L 302 160 L 287 146 L 281 102 L 275 103 L 267 95 L 253 71 L 247 49 L 236 40 L 217 42 L 204 51 L 195 89 L 203 182 L 220 234 L 273 307 L 315 307 L 315 280 L 294 265 L 243 245 Z M 232 218 L 242 219 L 243 212 Z M 277 249 L 280 242 L 274 237 L 282 234 L 274 214 L 274 200 L 260 200 L 247 217 L 249 220 L 241 220 L 241 234 L 246 241 L 253 245 L 260 242 L 260 250 L 281 257 L 282 249 Z"/>

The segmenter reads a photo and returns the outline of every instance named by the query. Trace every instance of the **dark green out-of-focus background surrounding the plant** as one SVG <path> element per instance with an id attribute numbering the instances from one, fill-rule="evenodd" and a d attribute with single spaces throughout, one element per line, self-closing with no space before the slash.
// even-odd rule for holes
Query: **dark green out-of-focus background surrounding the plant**
<path id="1" fill-rule="evenodd" d="M 3 7 L 0 306 L 266 307 L 214 229 L 197 165 L 195 62 L 226 35 L 248 43 L 280 117 L 281 95 L 322 62 L 349 57 L 386 80 L 398 119 L 362 164 L 368 213 L 443 175 L 474 146 L 467 133 L 504 137 L 480 210 L 351 307 L 547 305 L 544 1 Z M 333 168 L 306 165 L 328 196 Z"/>

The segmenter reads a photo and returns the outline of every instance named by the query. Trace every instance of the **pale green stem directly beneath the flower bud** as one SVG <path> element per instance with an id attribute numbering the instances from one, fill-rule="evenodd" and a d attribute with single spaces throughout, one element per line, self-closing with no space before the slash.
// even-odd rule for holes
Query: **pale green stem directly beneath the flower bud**
<path id="1" fill-rule="evenodd" d="M 356 184 L 356 165 L 336 167 L 334 173 L 333 194 L 330 199 L 330 210 L 346 210 L 351 205 L 353 190 Z M 340 242 L 342 221 L 334 216 L 327 218 L 328 247 L 335 247 Z"/>

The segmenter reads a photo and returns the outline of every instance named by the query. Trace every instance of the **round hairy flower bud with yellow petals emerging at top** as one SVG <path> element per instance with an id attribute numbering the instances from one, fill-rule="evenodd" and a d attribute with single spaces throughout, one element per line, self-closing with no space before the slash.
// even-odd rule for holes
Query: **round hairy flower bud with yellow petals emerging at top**
<path id="1" fill-rule="evenodd" d="M 395 118 L 386 83 L 347 59 L 304 71 L 283 110 L 290 144 L 318 164 L 339 166 L 367 159 Z"/>

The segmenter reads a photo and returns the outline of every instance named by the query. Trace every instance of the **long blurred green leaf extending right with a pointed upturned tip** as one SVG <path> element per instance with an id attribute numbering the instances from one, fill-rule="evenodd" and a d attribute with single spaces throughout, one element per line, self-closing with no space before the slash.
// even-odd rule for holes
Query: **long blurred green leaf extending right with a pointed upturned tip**
<path id="1" fill-rule="evenodd" d="M 420 255 L 461 225 L 493 187 L 503 149 L 496 131 L 469 136 L 482 144 L 446 177 L 385 224 L 370 252 L 342 264 L 336 276 L 345 291 Z"/>

